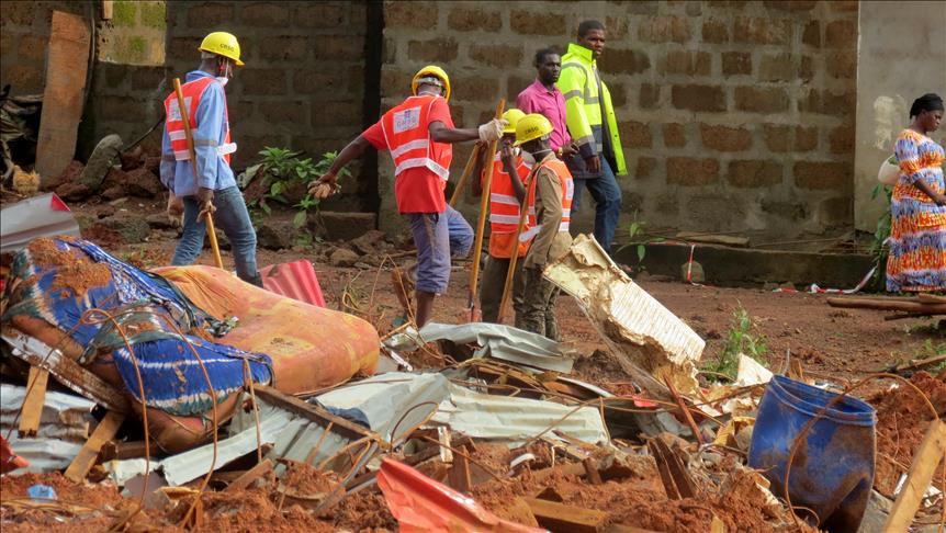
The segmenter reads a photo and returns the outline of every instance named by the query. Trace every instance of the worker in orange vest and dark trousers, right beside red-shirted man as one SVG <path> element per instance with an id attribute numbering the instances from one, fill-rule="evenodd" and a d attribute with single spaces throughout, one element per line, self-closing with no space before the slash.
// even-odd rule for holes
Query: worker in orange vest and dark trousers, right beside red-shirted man
<path id="1" fill-rule="evenodd" d="M 503 291 L 506 288 L 506 273 L 509 271 L 509 260 L 514 250 L 519 260 L 516 263 L 516 272 L 513 277 L 513 308 L 516 316 L 525 310 L 522 293 L 522 259 L 529 249 L 528 240 L 516 240 L 516 229 L 519 227 L 519 207 L 526 197 L 526 180 L 532 168 L 531 158 L 527 162 L 522 158 L 521 149 L 513 144 L 516 141 L 516 124 L 519 118 L 526 116 L 519 110 L 509 110 L 503 114 L 503 120 L 509 124 L 503 129 L 499 152 L 491 157 L 487 150 L 482 151 L 476 161 L 473 175 L 480 180 L 473 180 L 473 196 L 483 194 L 483 180 L 485 180 L 485 166 L 493 166 L 493 181 L 489 184 L 489 258 L 483 269 L 483 279 L 480 282 L 480 308 L 483 311 L 484 322 L 497 322 L 499 319 L 499 305 L 503 299 Z M 492 159 L 492 161 L 491 161 Z M 523 235 L 536 225 L 534 213 L 534 189 L 528 202 L 530 214 L 522 229 Z M 517 327 L 520 325 L 517 324 Z"/>

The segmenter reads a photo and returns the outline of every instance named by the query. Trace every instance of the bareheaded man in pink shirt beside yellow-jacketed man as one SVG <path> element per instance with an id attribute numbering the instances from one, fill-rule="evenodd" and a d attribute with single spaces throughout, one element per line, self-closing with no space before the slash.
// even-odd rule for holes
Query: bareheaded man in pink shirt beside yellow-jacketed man
<path id="1" fill-rule="evenodd" d="M 565 98 L 555 86 L 562 72 L 562 58 L 552 48 L 542 48 L 536 53 L 536 70 L 538 76 L 531 86 L 527 87 L 516 98 L 516 107 L 522 113 L 539 113 L 544 115 L 554 128 L 549 141 L 552 150 L 560 159 L 577 151 L 568 136 L 565 123 Z"/>

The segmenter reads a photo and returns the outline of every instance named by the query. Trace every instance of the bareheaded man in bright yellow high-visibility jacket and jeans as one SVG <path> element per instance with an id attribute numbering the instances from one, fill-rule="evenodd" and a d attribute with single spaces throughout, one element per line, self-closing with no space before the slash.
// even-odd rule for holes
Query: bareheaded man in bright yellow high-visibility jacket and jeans
<path id="1" fill-rule="evenodd" d="M 578 43 L 568 45 L 562 58 L 559 89 L 565 97 L 568 133 L 578 154 L 566 159 L 575 177 L 575 205 L 582 188 L 595 199 L 595 239 L 611 251 L 621 214 L 621 189 L 615 173 L 627 174 L 611 93 L 598 73 L 597 58 L 605 49 L 605 25 L 598 21 L 578 24 Z"/>

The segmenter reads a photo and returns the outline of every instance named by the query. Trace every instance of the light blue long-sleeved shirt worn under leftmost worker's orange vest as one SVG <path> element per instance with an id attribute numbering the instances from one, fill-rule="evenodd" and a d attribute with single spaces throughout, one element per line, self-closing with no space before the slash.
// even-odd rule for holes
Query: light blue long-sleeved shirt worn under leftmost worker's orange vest
<path id="1" fill-rule="evenodd" d="M 188 72 L 185 82 L 213 76 L 194 70 Z M 200 179 L 194 181 L 194 169 L 190 160 L 176 161 L 168 137 L 168 125 L 161 137 L 161 183 L 176 196 L 193 196 L 198 188 L 221 190 L 236 186 L 234 172 L 221 155 L 219 147 L 226 144 L 226 132 L 229 125 L 226 118 L 226 97 L 221 83 L 210 83 L 201 95 L 200 104 L 194 114 L 198 127 L 191 131 L 194 138 L 194 151 L 198 156 Z"/>

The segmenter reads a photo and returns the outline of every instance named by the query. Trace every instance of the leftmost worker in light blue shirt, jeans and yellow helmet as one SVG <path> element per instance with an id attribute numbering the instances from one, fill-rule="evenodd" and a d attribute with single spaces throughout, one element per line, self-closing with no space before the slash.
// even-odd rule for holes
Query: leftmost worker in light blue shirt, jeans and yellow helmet
<path id="1" fill-rule="evenodd" d="M 234 66 L 244 65 L 239 60 L 239 43 L 229 33 L 214 32 L 204 37 L 199 49 L 201 65 L 198 70 L 188 72 L 181 91 L 200 175 L 194 177 L 194 166 L 190 161 L 177 94 L 171 92 L 165 99 L 167 120 L 161 141 L 161 183 L 171 192 L 168 213 L 180 215 L 183 211 L 184 214 L 183 236 L 171 264 L 191 264 L 200 256 L 207 231 L 202 216 L 205 213 L 214 216 L 217 227 L 229 239 L 237 275 L 261 287 L 262 279 L 256 270 L 256 230 L 230 169 L 230 155 L 236 151 L 236 144 L 230 141 L 224 86 L 233 78 Z"/>

